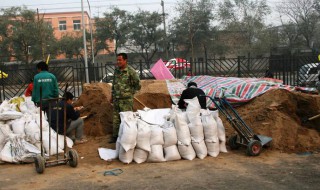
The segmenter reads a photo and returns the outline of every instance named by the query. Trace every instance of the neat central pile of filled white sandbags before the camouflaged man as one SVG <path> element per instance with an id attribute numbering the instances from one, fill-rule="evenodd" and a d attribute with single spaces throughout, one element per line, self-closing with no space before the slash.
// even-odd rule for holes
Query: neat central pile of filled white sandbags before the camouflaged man
<path id="1" fill-rule="evenodd" d="M 173 105 L 171 109 L 121 112 L 119 160 L 127 164 L 193 160 L 227 152 L 218 110 L 201 109 L 197 97 L 185 101 L 186 111 Z"/>

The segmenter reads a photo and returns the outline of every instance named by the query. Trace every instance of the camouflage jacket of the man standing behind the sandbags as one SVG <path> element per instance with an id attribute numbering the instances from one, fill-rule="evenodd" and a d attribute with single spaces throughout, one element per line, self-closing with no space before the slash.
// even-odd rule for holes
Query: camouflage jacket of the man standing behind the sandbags
<path id="1" fill-rule="evenodd" d="M 140 79 L 136 71 L 129 65 L 124 70 L 116 68 L 113 74 L 112 99 L 133 98 L 141 89 Z"/>

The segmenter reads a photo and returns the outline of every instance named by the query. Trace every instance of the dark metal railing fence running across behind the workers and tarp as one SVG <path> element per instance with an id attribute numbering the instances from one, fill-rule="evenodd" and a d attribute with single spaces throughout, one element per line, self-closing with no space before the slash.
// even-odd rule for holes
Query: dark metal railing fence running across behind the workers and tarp
<path id="1" fill-rule="evenodd" d="M 156 61 L 154 61 L 155 63 Z M 210 75 L 221 77 L 260 78 L 264 77 L 267 70 L 271 71 L 274 78 L 280 79 L 286 85 L 314 85 L 318 80 L 319 66 L 317 56 L 290 56 L 290 57 L 265 57 L 232 59 L 198 59 L 189 61 L 191 68 L 173 67 L 170 72 L 175 78 L 190 75 Z M 311 64 L 313 63 L 313 64 Z M 142 61 L 129 62 L 139 74 L 140 79 L 154 79 L 150 72 L 153 64 Z M 86 83 L 86 70 L 88 70 L 90 83 L 111 82 L 115 64 L 95 63 L 84 67 L 83 63 L 50 64 L 49 71 L 58 79 L 59 94 L 62 96 L 68 84 L 68 91 L 75 97 L 82 93 L 82 86 Z M 317 67 L 318 66 L 318 67 Z M 316 74 L 308 72 L 316 68 Z M 7 78 L 0 76 L 1 101 L 15 96 L 21 96 L 36 72 L 35 65 L 0 65 L 0 70 L 8 74 Z M 305 72 L 302 72 L 305 71 Z M 303 73 L 303 74 L 301 74 Z M 307 73 L 307 74 L 305 74 Z M 1 75 L 1 74 L 0 74 Z M 306 84 L 306 81 L 309 83 Z M 311 81 L 311 82 L 310 82 Z"/>

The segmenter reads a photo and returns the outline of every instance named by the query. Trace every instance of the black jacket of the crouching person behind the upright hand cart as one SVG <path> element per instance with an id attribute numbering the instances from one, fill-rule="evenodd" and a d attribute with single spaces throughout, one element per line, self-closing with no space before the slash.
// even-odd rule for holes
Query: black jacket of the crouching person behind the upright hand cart
<path id="1" fill-rule="evenodd" d="M 58 125 L 59 125 L 59 134 L 64 134 L 64 104 L 66 102 L 64 100 L 60 101 L 58 103 L 58 106 L 53 105 L 51 111 L 51 118 L 50 119 L 50 126 L 52 129 L 54 129 L 57 132 L 57 119 L 58 119 Z M 58 115 L 58 118 L 57 118 Z M 70 120 L 77 120 L 80 117 L 80 112 L 75 111 L 73 106 L 71 104 L 66 103 L 66 115 L 67 115 L 67 127 L 69 126 Z"/>

